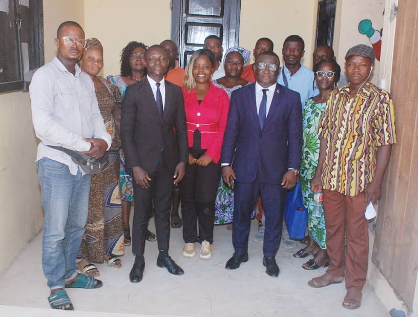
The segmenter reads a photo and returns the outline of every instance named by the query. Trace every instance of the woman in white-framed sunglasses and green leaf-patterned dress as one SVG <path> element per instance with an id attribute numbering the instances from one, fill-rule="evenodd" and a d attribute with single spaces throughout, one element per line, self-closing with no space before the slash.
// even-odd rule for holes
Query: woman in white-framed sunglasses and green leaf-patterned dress
<path id="1" fill-rule="evenodd" d="M 314 193 L 310 189 L 310 181 L 315 175 L 318 165 L 320 143 L 317 134 L 318 124 L 331 91 L 337 88 L 341 68 L 334 59 L 325 59 L 313 67 L 313 72 L 315 73 L 315 82 L 319 89 L 319 95 L 308 99 L 303 108 L 303 147 L 300 171 L 303 203 L 308 209 L 310 241 L 306 247 L 294 254 L 296 258 L 305 258 L 309 255 L 314 256 L 302 265 L 306 270 L 315 270 L 321 266 L 329 265 L 325 244 L 324 210 L 321 205 L 315 205 L 313 201 Z"/>

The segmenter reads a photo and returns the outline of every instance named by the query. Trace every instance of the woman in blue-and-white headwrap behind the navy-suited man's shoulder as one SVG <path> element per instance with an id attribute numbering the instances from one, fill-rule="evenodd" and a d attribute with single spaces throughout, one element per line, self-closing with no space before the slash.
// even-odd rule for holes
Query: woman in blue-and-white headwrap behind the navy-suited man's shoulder
<path id="1" fill-rule="evenodd" d="M 233 91 L 244 87 L 248 82 L 241 78 L 250 52 L 242 47 L 236 46 L 225 52 L 223 66 L 225 76 L 213 80 L 214 86 L 223 89 L 229 98 Z M 218 192 L 215 201 L 215 224 L 229 224 L 228 229 L 232 230 L 232 216 L 234 213 L 234 192 L 229 188 L 222 177 L 219 181 Z"/>

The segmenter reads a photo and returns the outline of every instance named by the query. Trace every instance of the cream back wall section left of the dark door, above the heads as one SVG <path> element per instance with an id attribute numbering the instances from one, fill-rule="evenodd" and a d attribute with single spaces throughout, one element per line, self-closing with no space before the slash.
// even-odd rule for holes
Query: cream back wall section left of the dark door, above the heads
<path id="1" fill-rule="evenodd" d="M 170 0 L 85 1 L 86 38 L 103 45 L 102 75 L 120 73 L 120 51 L 130 41 L 151 46 L 171 34 Z"/>

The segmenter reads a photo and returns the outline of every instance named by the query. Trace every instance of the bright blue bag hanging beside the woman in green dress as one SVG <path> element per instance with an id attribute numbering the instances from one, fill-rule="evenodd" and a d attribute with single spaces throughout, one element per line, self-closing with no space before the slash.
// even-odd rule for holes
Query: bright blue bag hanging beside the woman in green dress
<path id="1" fill-rule="evenodd" d="M 286 195 L 284 221 L 290 239 L 303 239 L 308 221 L 308 210 L 303 205 L 301 182 Z"/>

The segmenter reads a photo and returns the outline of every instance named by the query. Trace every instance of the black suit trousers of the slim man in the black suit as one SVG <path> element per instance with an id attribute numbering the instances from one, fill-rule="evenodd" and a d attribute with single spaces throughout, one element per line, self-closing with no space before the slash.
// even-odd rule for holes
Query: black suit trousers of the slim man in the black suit
<path id="1" fill-rule="evenodd" d="M 151 204 L 154 201 L 154 221 L 159 250 L 169 250 L 170 209 L 173 195 L 173 173 L 169 171 L 163 153 L 151 178 L 150 187 L 143 188 L 134 182 L 134 218 L 132 222 L 132 252 L 143 256 Z"/>

